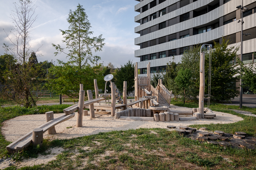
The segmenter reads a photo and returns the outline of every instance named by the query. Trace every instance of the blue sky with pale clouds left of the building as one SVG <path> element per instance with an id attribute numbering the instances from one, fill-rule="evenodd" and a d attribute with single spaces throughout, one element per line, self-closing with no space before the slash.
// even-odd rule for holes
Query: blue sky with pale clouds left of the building
<path id="1" fill-rule="evenodd" d="M 91 31 L 93 35 L 105 38 L 105 46 L 102 51 L 94 53 L 101 57 L 98 63 L 103 63 L 106 66 L 109 62 L 117 68 L 124 65 L 129 59 L 134 62 L 139 62 L 139 58 L 134 57 L 134 50 L 139 49 L 139 46 L 134 45 L 134 38 L 140 35 L 134 33 L 134 27 L 139 23 L 134 22 L 134 17 L 138 12 L 134 11 L 134 5 L 138 4 L 135 0 L 31 0 L 35 5 L 35 14 L 37 19 L 34 22 L 34 30 L 31 33 L 31 50 L 39 51 L 36 53 L 39 56 L 38 62 L 41 61 L 68 61 L 66 55 L 58 54 L 53 44 L 60 44 L 65 48 L 65 44 L 61 30 L 68 29 L 68 13 L 69 10 L 75 11 L 78 3 L 83 5 L 88 19 L 91 23 Z M 5 53 L 3 44 L 11 44 L 6 33 L 10 33 L 13 26 L 11 13 L 14 10 L 13 3 L 19 3 L 18 0 L 0 0 L 0 55 Z M 5 32 L 6 33 L 5 33 Z"/>

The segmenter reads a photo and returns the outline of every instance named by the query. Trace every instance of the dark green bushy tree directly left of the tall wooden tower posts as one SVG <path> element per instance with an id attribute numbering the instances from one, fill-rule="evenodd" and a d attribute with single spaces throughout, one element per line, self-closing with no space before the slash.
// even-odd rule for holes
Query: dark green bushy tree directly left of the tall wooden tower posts
<path id="1" fill-rule="evenodd" d="M 118 89 L 123 89 L 124 81 L 127 81 L 127 94 L 134 90 L 134 64 L 128 60 L 124 66 L 116 69 L 114 73 L 115 85 Z"/>

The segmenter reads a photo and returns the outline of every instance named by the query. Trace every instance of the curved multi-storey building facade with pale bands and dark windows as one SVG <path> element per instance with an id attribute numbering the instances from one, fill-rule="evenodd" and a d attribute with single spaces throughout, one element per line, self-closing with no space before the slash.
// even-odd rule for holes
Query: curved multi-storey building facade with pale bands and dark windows
<path id="1" fill-rule="evenodd" d="M 195 44 L 220 42 L 227 36 L 229 46 L 241 45 L 241 10 L 236 6 L 242 0 L 137 0 L 134 10 L 139 12 L 134 21 L 135 57 L 140 57 L 140 74 L 147 73 L 147 63 L 151 63 L 151 73 L 165 72 L 166 63 L 180 62 L 186 49 Z M 244 11 L 243 61 L 256 63 L 256 0 L 243 0 Z M 238 51 L 240 56 L 241 51 Z M 199 56 L 198 56 L 199 57 Z M 144 76 L 144 75 L 141 75 Z"/>

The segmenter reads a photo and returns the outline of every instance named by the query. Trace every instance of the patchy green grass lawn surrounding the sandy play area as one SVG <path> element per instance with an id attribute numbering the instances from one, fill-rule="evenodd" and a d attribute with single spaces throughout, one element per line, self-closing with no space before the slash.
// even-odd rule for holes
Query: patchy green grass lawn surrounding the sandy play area
<path id="1" fill-rule="evenodd" d="M 174 105 L 197 107 L 195 102 L 173 101 Z M 32 110 L 11 107 L 0 108 L 0 122 L 24 114 L 43 114 L 46 110 L 60 108 L 44 106 L 31 108 Z M 62 105 L 64 106 L 64 105 Z M 65 106 L 65 108 L 68 106 Z M 207 127 L 209 130 L 223 130 L 226 133 L 244 131 L 251 136 L 256 134 L 256 117 L 237 114 L 228 109 L 237 109 L 237 106 L 212 104 L 213 111 L 220 111 L 238 115 L 243 121 L 231 124 L 193 125 L 191 127 Z M 34 109 L 34 110 L 33 110 Z M 39 111 L 40 110 L 40 111 Z M 243 107 L 242 110 L 255 113 L 254 109 Z M 170 122 L 171 124 L 171 122 Z M 9 142 L 0 136 L 0 156 L 7 154 L 5 149 Z M 221 146 L 200 143 L 190 138 L 178 135 L 167 129 L 130 129 L 126 131 L 110 131 L 73 139 L 44 140 L 43 147 L 30 145 L 14 159 L 22 161 L 25 158 L 35 158 L 38 153 L 49 154 L 47 149 L 62 147 L 65 149 L 56 160 L 44 165 L 23 167 L 22 170 L 39 169 L 256 169 L 256 151 L 248 149 L 223 148 Z M 16 169 L 9 167 L 8 170 Z"/>

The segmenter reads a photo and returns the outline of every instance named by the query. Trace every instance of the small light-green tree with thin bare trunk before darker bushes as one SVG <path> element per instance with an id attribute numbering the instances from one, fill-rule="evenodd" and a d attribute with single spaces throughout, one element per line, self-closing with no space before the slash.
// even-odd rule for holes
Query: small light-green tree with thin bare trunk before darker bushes
<path id="1" fill-rule="evenodd" d="M 175 78 L 175 83 L 183 90 L 184 92 L 184 104 L 185 104 L 185 99 L 186 99 L 186 89 L 189 87 L 189 85 L 192 83 L 190 80 L 192 77 L 192 72 L 189 69 L 183 70 L 183 68 L 180 69 L 178 72 L 176 78 Z"/>

